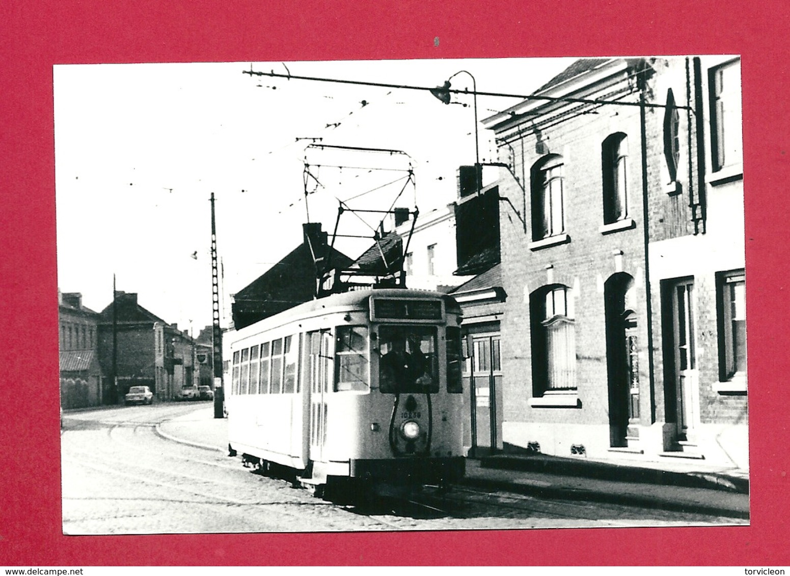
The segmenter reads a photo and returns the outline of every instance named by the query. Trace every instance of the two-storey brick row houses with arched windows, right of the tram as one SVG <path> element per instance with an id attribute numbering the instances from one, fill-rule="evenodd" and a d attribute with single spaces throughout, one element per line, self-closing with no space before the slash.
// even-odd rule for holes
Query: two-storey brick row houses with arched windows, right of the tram
<path id="1" fill-rule="evenodd" d="M 739 62 L 585 58 L 533 96 L 483 121 L 503 445 L 745 466 Z"/>

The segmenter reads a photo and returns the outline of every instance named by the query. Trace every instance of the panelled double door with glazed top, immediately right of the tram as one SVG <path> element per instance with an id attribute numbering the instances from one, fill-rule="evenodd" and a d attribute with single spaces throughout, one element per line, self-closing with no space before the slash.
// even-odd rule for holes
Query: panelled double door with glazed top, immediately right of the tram
<path id="1" fill-rule="evenodd" d="M 502 366 L 499 361 L 499 335 L 475 335 L 471 339 L 471 355 L 467 363 L 466 380 L 472 396 L 472 455 L 481 456 L 495 451 L 497 434 L 498 398 L 502 391 Z"/>

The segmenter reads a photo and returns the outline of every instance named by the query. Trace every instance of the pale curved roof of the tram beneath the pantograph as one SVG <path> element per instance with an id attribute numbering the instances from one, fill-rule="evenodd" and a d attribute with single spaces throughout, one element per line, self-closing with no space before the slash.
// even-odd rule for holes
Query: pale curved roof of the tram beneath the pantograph
<path id="1" fill-rule="evenodd" d="M 420 297 L 431 299 L 438 298 L 445 302 L 445 309 L 448 312 L 461 312 L 461 306 L 458 305 L 455 298 L 450 294 L 444 294 L 434 290 L 416 290 L 411 288 L 371 288 L 367 290 L 352 290 L 340 294 L 329 294 L 329 296 L 304 302 L 284 312 L 259 320 L 255 324 L 239 328 L 236 334 L 243 336 L 247 331 L 255 333 L 261 331 L 261 329 L 278 327 L 283 324 L 288 324 L 288 322 L 299 316 L 311 316 L 311 312 L 331 312 L 333 309 L 340 311 L 348 307 L 367 304 L 368 299 L 374 295 L 377 297 L 400 297 L 410 299 L 419 299 Z"/>

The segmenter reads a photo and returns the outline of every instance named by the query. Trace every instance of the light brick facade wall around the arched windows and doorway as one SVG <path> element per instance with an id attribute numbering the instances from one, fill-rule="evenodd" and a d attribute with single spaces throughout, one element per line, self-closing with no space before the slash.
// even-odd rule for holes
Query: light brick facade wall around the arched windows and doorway
<path id="1" fill-rule="evenodd" d="M 626 81 L 615 88 L 627 90 L 628 86 Z M 626 96 L 626 99 L 638 101 L 638 94 Z M 625 133 L 628 137 L 629 216 L 634 227 L 602 234 L 601 146 L 613 133 Z M 577 114 L 559 124 L 544 127 L 540 129 L 540 138 L 531 131 L 522 131 L 517 140 L 501 148 L 502 155 L 515 160 L 513 173 L 525 183 L 525 189 L 521 189 L 519 182 L 506 178 L 501 184 L 502 196 L 508 196 L 515 206 L 525 209 L 527 223 L 525 234 L 512 209 L 502 209 L 502 274 L 508 294 L 502 320 L 506 421 L 608 423 L 604 282 L 617 271 L 637 279 L 639 341 L 647 342 L 640 140 L 637 107 L 604 106 L 597 108 L 595 114 Z M 529 173 L 532 165 L 543 156 L 538 151 L 563 157 L 566 231 L 570 242 L 532 250 L 529 247 L 532 241 Z M 551 267 L 550 271 L 547 267 Z M 577 391 L 581 410 L 529 406 L 534 384 L 529 295 L 550 283 L 563 284 L 575 293 Z M 646 353 L 643 356 L 640 378 L 647 389 L 641 395 L 641 413 L 649 419 L 649 362 Z"/>

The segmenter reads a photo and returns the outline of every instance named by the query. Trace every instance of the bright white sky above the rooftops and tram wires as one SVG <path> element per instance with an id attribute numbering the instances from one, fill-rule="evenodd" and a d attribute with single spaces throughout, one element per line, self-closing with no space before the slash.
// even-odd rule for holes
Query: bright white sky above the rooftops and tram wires
<path id="1" fill-rule="evenodd" d="M 470 94 L 444 105 L 423 90 L 244 71 L 428 88 L 455 75 L 454 89 L 472 91 L 473 77 L 478 92 L 527 95 L 573 60 L 56 65 L 58 288 L 100 311 L 115 275 L 118 290 L 197 335 L 212 321 L 213 193 L 227 327 L 230 295 L 295 249 L 302 223 L 331 232 L 340 200 L 442 208 L 457 166 L 476 160 L 476 136 L 480 161 L 498 160 Z M 518 101 L 480 96 L 478 118 Z M 345 212 L 338 231 L 370 234 L 380 217 Z M 336 247 L 356 257 L 367 245 Z"/>

